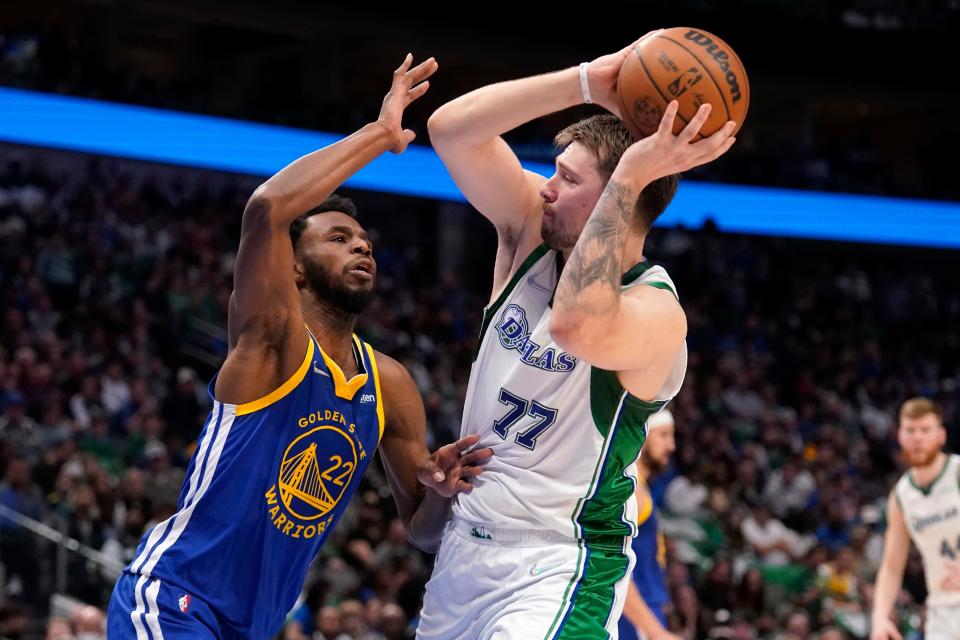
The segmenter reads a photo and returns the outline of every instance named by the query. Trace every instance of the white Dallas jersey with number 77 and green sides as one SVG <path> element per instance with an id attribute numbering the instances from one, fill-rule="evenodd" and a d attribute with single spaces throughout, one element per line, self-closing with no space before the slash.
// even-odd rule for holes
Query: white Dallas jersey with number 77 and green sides
<path id="1" fill-rule="evenodd" d="M 454 515 L 578 539 L 636 534 L 636 459 L 647 418 L 683 382 L 686 344 L 656 400 L 626 392 L 612 371 L 563 352 L 550 337 L 560 275 L 556 251 L 541 245 L 484 310 L 463 410 L 461 437 L 479 434 L 493 458 Z M 646 262 L 624 274 L 676 294 L 666 271 Z"/>

